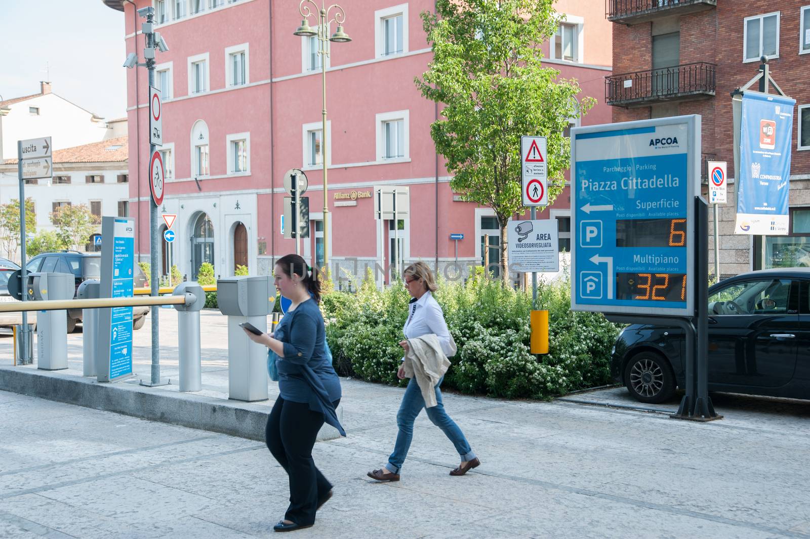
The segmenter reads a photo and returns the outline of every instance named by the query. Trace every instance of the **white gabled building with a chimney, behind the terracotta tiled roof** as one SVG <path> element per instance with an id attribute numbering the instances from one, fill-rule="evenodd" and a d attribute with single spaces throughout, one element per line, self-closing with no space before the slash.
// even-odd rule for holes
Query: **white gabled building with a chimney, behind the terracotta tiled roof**
<path id="1" fill-rule="evenodd" d="M 17 157 L 18 140 L 51 137 L 53 149 L 60 150 L 109 138 L 110 129 L 104 118 L 52 93 L 51 83 L 42 82 L 38 94 L 0 101 L 0 163 Z"/>

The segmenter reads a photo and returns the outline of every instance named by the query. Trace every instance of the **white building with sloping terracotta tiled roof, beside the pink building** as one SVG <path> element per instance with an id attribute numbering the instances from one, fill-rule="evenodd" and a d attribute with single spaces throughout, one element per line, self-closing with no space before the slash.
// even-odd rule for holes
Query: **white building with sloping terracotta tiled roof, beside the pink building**
<path id="1" fill-rule="evenodd" d="M 126 137 L 53 151 L 53 177 L 25 185 L 25 197 L 35 205 L 36 230 L 54 230 L 50 214 L 62 205 L 83 204 L 98 216 L 128 216 L 128 151 Z M 0 204 L 17 198 L 17 159 L 9 159 L 0 164 Z"/>

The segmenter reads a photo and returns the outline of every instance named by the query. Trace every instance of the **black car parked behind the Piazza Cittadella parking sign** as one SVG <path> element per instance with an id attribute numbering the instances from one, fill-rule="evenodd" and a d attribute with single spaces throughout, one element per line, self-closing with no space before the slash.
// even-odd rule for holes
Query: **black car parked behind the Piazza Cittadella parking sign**
<path id="1" fill-rule="evenodd" d="M 709 390 L 810 399 L 810 268 L 763 269 L 709 288 Z M 611 372 L 638 401 L 684 386 L 684 334 L 627 326 Z"/>

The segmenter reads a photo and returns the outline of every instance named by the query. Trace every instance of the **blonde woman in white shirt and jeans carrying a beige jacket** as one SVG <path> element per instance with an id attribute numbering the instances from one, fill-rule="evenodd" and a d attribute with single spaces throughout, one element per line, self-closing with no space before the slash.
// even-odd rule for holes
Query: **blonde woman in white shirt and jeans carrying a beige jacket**
<path id="1" fill-rule="evenodd" d="M 413 339 L 433 333 L 441 344 L 441 350 L 448 355 L 454 354 L 454 344 L 451 344 L 450 332 L 447 330 L 444 313 L 441 312 L 439 303 L 431 294 L 431 292 L 437 290 L 437 286 L 428 265 L 421 261 L 409 265 L 405 269 L 403 278 L 407 291 L 412 298 L 411 303 L 408 304 L 408 317 L 403 328 L 405 337 Z M 407 341 L 399 342 L 399 346 L 402 346 L 406 351 L 408 350 Z M 399 366 L 397 376 L 399 376 L 400 380 L 405 378 L 403 365 Z M 430 421 L 444 431 L 445 435 L 453 442 L 458 455 L 461 456 L 461 464 L 458 465 L 458 468 L 452 470 L 450 475 L 464 475 L 468 470 L 480 465 L 480 461 L 470 448 L 470 444 L 461 429 L 445 412 L 445 406 L 441 403 L 441 391 L 439 390 L 442 380 L 444 380 L 444 376 L 436 384 L 437 405 L 425 410 L 427 410 Z M 402 404 L 399 405 L 399 413 L 397 414 L 399 434 L 397 435 L 396 444 L 394 444 L 394 452 L 388 457 L 388 463 L 382 469 L 369 472 L 367 474 L 369 477 L 377 479 L 377 481 L 399 481 L 399 472 L 407 456 L 408 448 L 411 447 L 411 439 L 413 439 L 413 422 L 423 408 L 424 398 L 419 384 L 417 384 L 416 378 L 411 378 L 411 381 L 407 384 Z"/>

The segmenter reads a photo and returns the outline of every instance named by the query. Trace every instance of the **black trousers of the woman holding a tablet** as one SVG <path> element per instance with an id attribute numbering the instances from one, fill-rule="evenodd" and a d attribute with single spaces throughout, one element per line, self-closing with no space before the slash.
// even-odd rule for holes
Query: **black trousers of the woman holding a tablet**
<path id="1" fill-rule="evenodd" d="M 335 401 L 335 407 L 339 402 Z M 290 477 L 290 506 L 284 519 L 296 524 L 313 524 L 318 500 L 332 489 L 312 458 L 323 423 L 323 414 L 309 410 L 308 404 L 281 397 L 275 400 L 267 418 L 267 448 Z"/>

